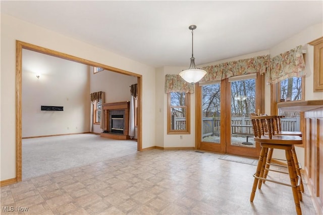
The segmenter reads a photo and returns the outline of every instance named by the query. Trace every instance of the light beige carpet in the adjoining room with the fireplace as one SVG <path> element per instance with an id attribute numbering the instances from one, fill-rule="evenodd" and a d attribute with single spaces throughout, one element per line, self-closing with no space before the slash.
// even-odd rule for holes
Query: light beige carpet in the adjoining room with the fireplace
<path id="1" fill-rule="evenodd" d="M 137 153 L 134 140 L 73 134 L 22 140 L 22 179 Z"/>

